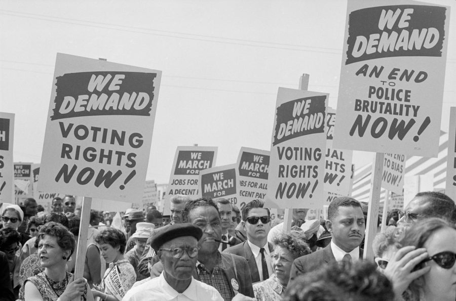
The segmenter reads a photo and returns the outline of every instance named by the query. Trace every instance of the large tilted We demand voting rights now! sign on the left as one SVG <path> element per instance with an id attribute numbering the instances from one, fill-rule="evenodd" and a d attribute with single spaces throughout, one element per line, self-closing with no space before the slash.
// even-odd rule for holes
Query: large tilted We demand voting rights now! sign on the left
<path id="1" fill-rule="evenodd" d="M 40 191 L 140 202 L 161 71 L 57 54 Z"/>

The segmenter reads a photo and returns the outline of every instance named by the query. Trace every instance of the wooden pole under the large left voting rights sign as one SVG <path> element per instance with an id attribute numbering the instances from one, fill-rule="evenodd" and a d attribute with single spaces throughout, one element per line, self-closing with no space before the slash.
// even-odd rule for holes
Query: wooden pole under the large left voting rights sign
<path id="1" fill-rule="evenodd" d="M 83 206 L 81 210 L 81 224 L 79 226 L 78 250 L 76 252 L 76 265 L 74 266 L 74 279 L 83 277 L 84 264 L 87 251 L 87 235 L 89 233 L 90 208 L 92 207 L 92 198 L 83 197 Z M 81 297 L 74 298 L 73 301 L 80 301 Z"/>

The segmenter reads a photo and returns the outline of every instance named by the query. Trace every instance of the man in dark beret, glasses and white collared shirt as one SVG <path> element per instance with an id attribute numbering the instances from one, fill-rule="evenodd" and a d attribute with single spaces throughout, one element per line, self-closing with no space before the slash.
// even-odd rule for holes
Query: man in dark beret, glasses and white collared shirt
<path id="1" fill-rule="evenodd" d="M 192 277 L 202 235 L 196 226 L 175 224 L 154 236 L 150 245 L 164 267 L 163 272 L 130 289 L 123 300 L 223 300 L 215 288 Z"/>

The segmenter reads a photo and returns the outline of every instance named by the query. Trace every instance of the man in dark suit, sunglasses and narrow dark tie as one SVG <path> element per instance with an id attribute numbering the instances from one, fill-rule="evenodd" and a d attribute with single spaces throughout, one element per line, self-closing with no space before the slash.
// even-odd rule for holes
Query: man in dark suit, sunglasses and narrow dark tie
<path id="1" fill-rule="evenodd" d="M 247 260 L 253 283 L 266 280 L 273 273 L 271 253 L 274 247 L 268 243 L 271 215 L 268 208 L 263 208 L 263 204 L 263 201 L 253 200 L 244 206 L 241 223 L 246 230 L 247 240 L 224 251 Z"/>

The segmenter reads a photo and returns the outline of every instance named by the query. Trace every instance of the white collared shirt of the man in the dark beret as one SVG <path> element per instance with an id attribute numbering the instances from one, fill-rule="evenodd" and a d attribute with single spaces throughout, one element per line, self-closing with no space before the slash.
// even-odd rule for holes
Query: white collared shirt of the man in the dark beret
<path id="1" fill-rule="evenodd" d="M 212 286 L 192 277 L 192 282 L 182 293 L 178 293 L 166 282 L 165 276 L 159 277 L 131 288 L 122 301 L 223 301 L 220 293 Z"/>

